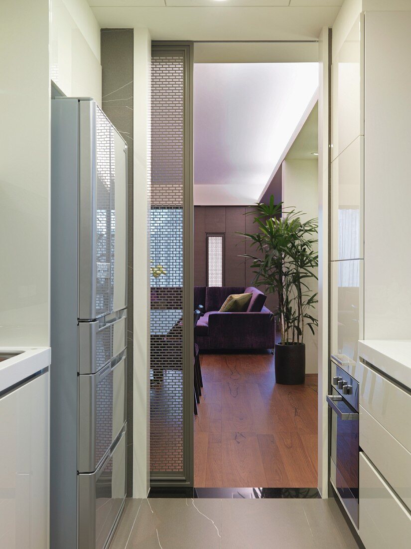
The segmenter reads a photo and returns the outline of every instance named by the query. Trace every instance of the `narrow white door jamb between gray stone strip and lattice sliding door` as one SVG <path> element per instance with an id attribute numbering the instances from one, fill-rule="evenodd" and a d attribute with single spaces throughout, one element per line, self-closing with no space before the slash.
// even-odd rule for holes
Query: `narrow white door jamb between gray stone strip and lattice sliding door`
<path id="1" fill-rule="evenodd" d="M 149 31 L 134 29 L 133 497 L 150 489 L 150 70 Z"/>

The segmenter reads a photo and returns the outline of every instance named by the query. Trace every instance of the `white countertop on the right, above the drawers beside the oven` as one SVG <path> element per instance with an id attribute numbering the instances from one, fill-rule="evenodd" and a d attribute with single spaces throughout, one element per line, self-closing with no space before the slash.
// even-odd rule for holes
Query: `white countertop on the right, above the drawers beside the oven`
<path id="1" fill-rule="evenodd" d="M 360 340 L 358 356 L 411 390 L 411 340 Z"/>

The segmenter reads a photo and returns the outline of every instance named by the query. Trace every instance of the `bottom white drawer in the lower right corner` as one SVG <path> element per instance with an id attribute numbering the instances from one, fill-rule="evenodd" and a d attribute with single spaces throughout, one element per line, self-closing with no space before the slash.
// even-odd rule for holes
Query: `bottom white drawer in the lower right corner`
<path id="1" fill-rule="evenodd" d="M 408 549 L 411 514 L 363 452 L 359 454 L 359 536 L 366 549 Z"/>

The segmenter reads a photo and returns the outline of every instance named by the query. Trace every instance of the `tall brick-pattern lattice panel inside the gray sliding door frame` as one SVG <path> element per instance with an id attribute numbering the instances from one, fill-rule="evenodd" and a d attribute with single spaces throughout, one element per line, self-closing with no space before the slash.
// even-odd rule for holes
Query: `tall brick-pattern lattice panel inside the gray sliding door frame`
<path id="1" fill-rule="evenodd" d="M 183 472 L 182 231 L 184 192 L 184 57 L 151 60 L 152 476 Z"/>

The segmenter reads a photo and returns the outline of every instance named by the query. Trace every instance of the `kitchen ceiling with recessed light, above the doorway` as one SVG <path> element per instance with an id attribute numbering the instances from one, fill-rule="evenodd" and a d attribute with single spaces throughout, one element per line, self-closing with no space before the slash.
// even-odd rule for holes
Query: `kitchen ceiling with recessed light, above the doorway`
<path id="1" fill-rule="evenodd" d="M 101 27 L 144 27 L 153 40 L 317 40 L 343 0 L 89 0 Z"/>

